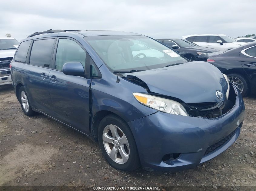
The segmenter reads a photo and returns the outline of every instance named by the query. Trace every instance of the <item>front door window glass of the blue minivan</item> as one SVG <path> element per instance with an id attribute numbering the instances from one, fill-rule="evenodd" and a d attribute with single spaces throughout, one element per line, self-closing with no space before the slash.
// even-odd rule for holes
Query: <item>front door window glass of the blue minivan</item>
<path id="1" fill-rule="evenodd" d="M 63 65 L 66 62 L 80 62 L 85 68 L 85 56 L 86 52 L 82 47 L 71 39 L 59 39 L 55 69 L 62 70 Z"/>

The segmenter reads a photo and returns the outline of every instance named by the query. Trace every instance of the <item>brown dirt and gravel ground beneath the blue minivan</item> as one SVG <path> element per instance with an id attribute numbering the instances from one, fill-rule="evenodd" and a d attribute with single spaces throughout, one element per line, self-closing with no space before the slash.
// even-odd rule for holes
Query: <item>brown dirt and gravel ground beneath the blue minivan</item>
<path id="1" fill-rule="evenodd" d="M 5 85 L 0 87 L 0 185 L 256 186 L 256 96 L 244 102 L 241 135 L 213 160 L 176 173 L 122 173 L 86 136 L 42 114 L 25 116 L 12 85 Z"/>

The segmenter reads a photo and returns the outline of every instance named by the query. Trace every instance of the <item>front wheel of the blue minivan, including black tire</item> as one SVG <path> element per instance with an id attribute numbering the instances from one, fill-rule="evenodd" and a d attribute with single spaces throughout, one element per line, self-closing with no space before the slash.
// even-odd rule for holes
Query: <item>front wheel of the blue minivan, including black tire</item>
<path id="1" fill-rule="evenodd" d="M 140 166 L 137 146 L 128 124 L 118 116 L 104 117 L 98 127 L 98 141 L 108 163 L 120 171 Z"/>

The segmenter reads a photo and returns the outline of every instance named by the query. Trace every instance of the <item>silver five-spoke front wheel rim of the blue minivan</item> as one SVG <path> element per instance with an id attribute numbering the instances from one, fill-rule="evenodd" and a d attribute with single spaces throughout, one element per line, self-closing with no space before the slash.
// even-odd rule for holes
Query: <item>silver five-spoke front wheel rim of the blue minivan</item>
<path id="1" fill-rule="evenodd" d="M 124 164 L 128 161 L 130 151 L 129 143 L 118 126 L 107 125 L 102 134 L 102 140 L 108 156 L 118 164 Z"/>

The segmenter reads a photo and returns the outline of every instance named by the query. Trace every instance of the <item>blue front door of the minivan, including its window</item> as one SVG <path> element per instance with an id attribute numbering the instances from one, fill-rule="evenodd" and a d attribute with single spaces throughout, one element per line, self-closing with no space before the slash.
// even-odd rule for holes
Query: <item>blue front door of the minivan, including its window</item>
<path id="1" fill-rule="evenodd" d="M 71 38 L 58 38 L 57 41 L 53 68 L 49 73 L 49 92 L 55 118 L 89 135 L 91 79 L 65 75 L 62 72 L 62 66 L 66 62 L 81 62 L 85 68 L 86 51 Z"/>

